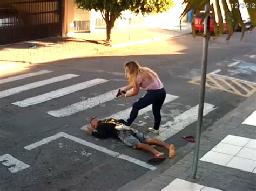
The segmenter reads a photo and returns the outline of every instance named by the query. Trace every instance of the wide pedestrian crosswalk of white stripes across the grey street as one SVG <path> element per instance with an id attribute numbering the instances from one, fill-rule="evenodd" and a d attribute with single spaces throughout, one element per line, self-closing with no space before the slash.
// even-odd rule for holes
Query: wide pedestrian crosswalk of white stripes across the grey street
<path id="1" fill-rule="evenodd" d="M 58 87 L 58 84 L 57 84 L 55 86 L 52 86 L 50 88 L 51 90 L 50 91 L 48 90 L 48 92 L 46 93 L 43 93 L 41 90 L 40 92 L 42 94 L 39 94 L 39 95 L 36 95 L 38 91 L 36 91 L 33 94 L 31 91 L 29 91 L 28 94 L 25 94 L 26 96 L 25 99 L 22 99 L 22 100 L 16 100 L 18 96 L 14 97 L 15 101 L 13 101 L 11 98 L 11 101 L 13 101 L 11 103 L 13 105 L 16 105 L 17 107 L 28 108 L 32 105 L 37 105 L 37 104 L 40 104 L 38 105 L 38 107 L 42 107 L 42 104 L 44 104 L 45 102 L 53 102 L 53 100 L 56 101 L 57 98 L 68 96 L 70 94 L 76 94 L 78 91 L 86 90 L 86 92 L 88 92 L 90 91 L 90 88 L 98 86 L 100 84 L 102 84 L 102 86 L 104 87 L 108 87 L 106 89 L 109 89 L 109 87 L 112 86 L 110 84 L 111 80 L 95 78 L 95 79 L 89 79 L 88 81 L 84 81 L 84 78 L 82 78 L 80 75 L 77 75 L 77 74 L 63 74 L 63 75 L 56 76 L 56 73 L 57 72 L 53 72 L 49 70 L 40 70 L 37 72 L 31 72 L 27 74 L 12 76 L 6 79 L 0 79 L 0 88 L 1 88 L 1 85 L 4 83 L 8 83 L 8 87 L 11 87 L 14 84 L 14 82 L 18 80 L 19 80 L 19 83 L 22 83 L 22 81 L 20 80 L 23 80 L 23 79 L 26 79 L 26 81 L 28 81 L 28 78 L 29 78 L 29 81 L 32 81 L 32 83 L 22 84 L 21 86 L 12 87 L 10 89 L 2 90 L 1 88 L 2 91 L 0 91 L 0 98 L 5 98 L 11 95 L 22 93 L 23 91 L 27 91 L 27 90 L 31 90 L 39 87 L 42 88 L 43 86 L 48 86 L 49 84 L 53 84 L 53 83 L 57 84 L 57 82 L 62 82 L 62 81 L 66 82 L 71 79 L 75 79 L 75 78 L 77 79 L 75 84 L 69 83 L 70 84 L 69 86 L 62 87 L 60 89 L 56 88 Z M 45 74 L 48 74 L 47 77 L 45 77 L 46 79 L 44 79 L 44 76 L 43 76 Z M 33 79 L 34 77 L 37 77 L 39 75 L 41 76 L 40 81 L 37 81 L 37 79 Z M 83 82 L 77 82 L 79 80 Z M 104 89 L 104 87 L 101 89 Z M 86 110 L 97 107 L 98 105 L 112 104 L 112 101 L 116 99 L 116 94 L 118 89 L 122 89 L 122 88 L 123 87 L 119 87 L 117 89 L 111 88 L 110 91 L 107 91 L 105 93 L 103 92 L 103 94 L 100 94 L 100 95 L 88 97 L 85 100 L 79 101 L 76 103 L 73 103 L 72 100 L 61 102 L 58 105 L 61 105 L 62 107 L 55 108 L 55 110 L 49 109 L 44 112 L 45 114 L 55 118 L 76 116 L 76 114 L 80 112 L 86 112 Z M 179 100 L 179 98 L 181 97 L 167 94 L 164 105 L 170 104 L 174 100 Z M 129 116 L 131 109 L 132 107 L 129 107 L 129 108 L 123 107 L 121 111 L 118 111 L 114 114 L 113 113 L 111 114 L 111 109 L 110 109 L 108 110 L 109 112 L 106 114 L 106 118 L 125 119 Z M 204 115 L 207 115 L 214 109 L 216 109 L 214 105 L 205 103 Z M 152 106 L 149 105 L 148 107 L 139 111 L 139 116 L 142 116 L 146 114 L 146 112 L 149 112 L 151 110 L 152 110 Z M 187 109 L 182 114 L 174 117 L 172 121 L 168 121 L 165 124 L 161 125 L 160 135 L 157 138 L 161 140 L 166 140 L 167 138 L 173 136 L 177 132 L 184 129 L 186 126 L 190 125 L 193 122 L 196 122 L 197 110 L 198 110 L 198 105 L 191 105 L 190 109 Z M 114 111 L 114 108 L 113 108 L 113 111 Z M 92 114 L 92 116 L 97 116 L 97 114 Z M 85 128 L 86 126 L 83 126 L 81 129 L 84 130 Z"/>

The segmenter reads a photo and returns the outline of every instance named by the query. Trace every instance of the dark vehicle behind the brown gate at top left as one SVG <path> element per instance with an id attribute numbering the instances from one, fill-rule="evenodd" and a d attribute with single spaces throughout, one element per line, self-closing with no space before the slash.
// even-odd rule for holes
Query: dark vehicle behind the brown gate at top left
<path id="1" fill-rule="evenodd" d="M 0 29 L 22 25 L 23 19 L 16 8 L 12 6 L 0 6 Z"/>

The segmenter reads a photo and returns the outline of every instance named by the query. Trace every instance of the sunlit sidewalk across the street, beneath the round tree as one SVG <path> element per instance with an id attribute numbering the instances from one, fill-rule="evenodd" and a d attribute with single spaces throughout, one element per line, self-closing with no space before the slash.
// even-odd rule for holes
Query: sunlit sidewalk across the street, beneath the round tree
<path id="1" fill-rule="evenodd" d="M 127 29 L 113 30 L 112 44 L 117 48 L 163 40 L 191 32 L 189 26 L 184 26 L 183 29 L 180 31 L 177 30 L 177 27 L 174 27 L 173 30 L 133 28 L 130 29 L 130 40 Z M 103 30 L 95 34 L 76 33 L 74 37 L 48 38 L 0 46 L 0 66 L 9 65 L 9 63 L 46 63 L 95 55 L 99 52 L 109 51 L 113 47 L 89 43 L 86 40 L 104 40 L 105 38 L 106 34 Z M 30 45 L 36 45 L 36 47 L 30 47 Z"/>

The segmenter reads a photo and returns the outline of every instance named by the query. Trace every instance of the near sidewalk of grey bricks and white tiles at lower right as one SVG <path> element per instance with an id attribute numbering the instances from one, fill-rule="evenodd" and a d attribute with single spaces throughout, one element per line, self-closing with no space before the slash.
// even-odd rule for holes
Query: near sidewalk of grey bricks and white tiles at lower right
<path id="1" fill-rule="evenodd" d="M 202 134 L 196 180 L 191 179 L 194 143 L 188 143 L 177 154 L 192 152 L 137 190 L 256 190 L 255 103 L 256 94 Z"/>

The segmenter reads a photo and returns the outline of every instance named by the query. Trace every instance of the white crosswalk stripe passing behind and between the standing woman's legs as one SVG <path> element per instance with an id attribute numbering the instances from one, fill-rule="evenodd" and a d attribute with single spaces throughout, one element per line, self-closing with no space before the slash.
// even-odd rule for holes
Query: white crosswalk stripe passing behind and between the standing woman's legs
<path id="1" fill-rule="evenodd" d="M 174 96 L 174 95 L 170 95 L 170 94 L 166 94 L 166 98 L 165 98 L 164 104 L 169 103 L 169 102 L 171 102 L 173 100 L 176 100 L 177 98 L 179 98 L 179 97 L 178 96 Z M 125 119 L 125 118 L 129 117 L 131 110 L 132 110 L 132 107 L 130 107 L 128 109 L 125 109 L 123 111 L 117 112 L 116 114 L 113 114 L 113 115 L 111 115 L 109 117 L 106 117 L 106 118 L 107 119 L 109 119 L 109 118 Z M 152 110 L 152 105 L 149 105 L 146 108 L 143 108 L 143 109 L 139 110 L 138 116 L 143 115 L 146 112 L 151 111 L 151 110 Z M 80 129 L 86 130 L 87 126 L 88 125 L 82 126 L 82 128 L 80 128 Z"/>

